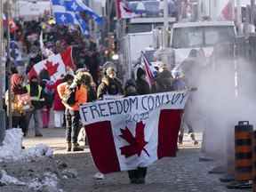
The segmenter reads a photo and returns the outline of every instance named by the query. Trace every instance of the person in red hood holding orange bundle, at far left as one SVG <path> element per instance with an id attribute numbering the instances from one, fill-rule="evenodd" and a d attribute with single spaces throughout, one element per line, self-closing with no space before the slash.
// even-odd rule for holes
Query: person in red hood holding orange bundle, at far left
<path id="1" fill-rule="evenodd" d="M 11 78 L 11 92 L 12 92 L 12 127 L 22 130 L 23 135 L 27 136 L 28 123 L 26 115 L 32 108 L 30 97 L 25 86 L 23 86 L 23 77 L 19 74 L 13 74 Z M 5 104 L 9 106 L 8 91 L 5 93 Z M 7 113 L 9 114 L 9 112 Z"/>

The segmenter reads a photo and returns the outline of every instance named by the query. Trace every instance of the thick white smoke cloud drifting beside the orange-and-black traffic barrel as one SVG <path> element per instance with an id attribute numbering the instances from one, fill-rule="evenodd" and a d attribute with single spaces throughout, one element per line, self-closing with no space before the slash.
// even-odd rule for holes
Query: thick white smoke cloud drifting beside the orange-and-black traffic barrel
<path id="1" fill-rule="evenodd" d="M 234 150 L 238 121 L 255 126 L 256 76 L 252 67 L 245 60 L 221 60 L 200 75 L 193 125 L 197 131 L 204 130 L 203 149 L 211 156 L 226 158 L 227 150 Z"/>

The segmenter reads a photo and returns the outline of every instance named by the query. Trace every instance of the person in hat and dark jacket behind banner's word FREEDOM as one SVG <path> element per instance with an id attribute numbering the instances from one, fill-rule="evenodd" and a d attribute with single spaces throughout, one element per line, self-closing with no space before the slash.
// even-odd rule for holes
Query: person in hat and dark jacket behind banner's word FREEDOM
<path id="1" fill-rule="evenodd" d="M 104 95 L 122 95 L 123 93 L 122 84 L 116 78 L 115 68 L 108 67 L 106 76 L 102 78 L 101 84 L 98 87 L 98 99 L 102 100 Z"/>

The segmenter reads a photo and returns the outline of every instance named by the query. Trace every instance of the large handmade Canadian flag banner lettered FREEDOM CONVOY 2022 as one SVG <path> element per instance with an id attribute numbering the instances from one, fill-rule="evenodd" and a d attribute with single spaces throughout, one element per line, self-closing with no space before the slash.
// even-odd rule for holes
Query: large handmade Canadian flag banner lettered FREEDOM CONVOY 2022
<path id="1" fill-rule="evenodd" d="M 94 164 L 100 172 L 144 167 L 176 156 L 188 92 L 99 100 L 80 108 Z"/>

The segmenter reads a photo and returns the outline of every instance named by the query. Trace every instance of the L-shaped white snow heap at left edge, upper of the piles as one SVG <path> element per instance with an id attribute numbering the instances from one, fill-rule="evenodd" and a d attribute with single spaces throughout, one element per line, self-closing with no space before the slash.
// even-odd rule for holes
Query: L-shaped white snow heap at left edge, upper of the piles
<path id="1" fill-rule="evenodd" d="M 53 150 L 44 144 L 38 144 L 34 148 L 21 149 L 21 129 L 6 131 L 3 146 L 0 146 L 0 162 L 32 161 L 41 156 L 52 157 Z"/>

